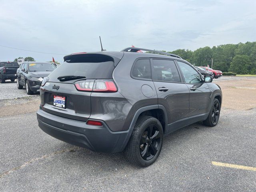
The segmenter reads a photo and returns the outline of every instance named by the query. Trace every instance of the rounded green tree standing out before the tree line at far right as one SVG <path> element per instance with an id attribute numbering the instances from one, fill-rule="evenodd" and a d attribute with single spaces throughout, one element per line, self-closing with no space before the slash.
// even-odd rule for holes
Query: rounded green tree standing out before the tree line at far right
<path id="1" fill-rule="evenodd" d="M 230 72 L 235 72 L 237 74 L 248 74 L 248 70 L 251 66 L 250 57 L 247 55 L 236 55 L 234 56 L 230 64 Z"/>

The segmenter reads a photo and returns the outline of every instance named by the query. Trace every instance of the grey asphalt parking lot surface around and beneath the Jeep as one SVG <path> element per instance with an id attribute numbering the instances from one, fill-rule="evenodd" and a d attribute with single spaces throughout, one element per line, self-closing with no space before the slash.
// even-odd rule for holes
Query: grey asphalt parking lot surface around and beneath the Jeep
<path id="1" fill-rule="evenodd" d="M 253 169 L 213 163 L 256 168 L 256 108 L 222 107 L 217 126 L 199 122 L 169 134 L 147 168 L 131 165 L 123 153 L 52 138 L 38 127 L 35 111 L 20 111 L 0 116 L 0 191 L 256 191 Z"/>

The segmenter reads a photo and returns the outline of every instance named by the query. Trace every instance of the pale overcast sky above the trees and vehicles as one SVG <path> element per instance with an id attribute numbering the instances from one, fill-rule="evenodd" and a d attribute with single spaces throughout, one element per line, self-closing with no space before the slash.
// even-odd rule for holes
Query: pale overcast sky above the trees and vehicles
<path id="1" fill-rule="evenodd" d="M 62 62 L 65 54 L 99 51 L 99 36 L 104 49 L 115 51 L 256 41 L 256 1 L 0 0 L 1 61 Z"/>

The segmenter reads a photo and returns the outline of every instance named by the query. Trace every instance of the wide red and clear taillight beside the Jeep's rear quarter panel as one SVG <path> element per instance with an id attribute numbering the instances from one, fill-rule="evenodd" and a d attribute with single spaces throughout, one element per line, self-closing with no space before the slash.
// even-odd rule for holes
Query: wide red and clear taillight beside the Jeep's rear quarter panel
<path id="1" fill-rule="evenodd" d="M 117 88 L 113 80 L 85 80 L 75 83 L 78 91 L 90 92 L 116 92 Z"/>

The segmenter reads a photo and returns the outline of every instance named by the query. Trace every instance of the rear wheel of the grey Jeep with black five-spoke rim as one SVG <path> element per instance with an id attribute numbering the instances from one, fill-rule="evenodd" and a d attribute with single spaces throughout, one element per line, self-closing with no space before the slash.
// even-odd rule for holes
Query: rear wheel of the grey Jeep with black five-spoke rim
<path id="1" fill-rule="evenodd" d="M 137 166 L 150 166 L 161 152 L 163 138 L 163 128 L 159 120 L 151 116 L 142 116 L 136 122 L 126 146 L 126 157 Z"/>

